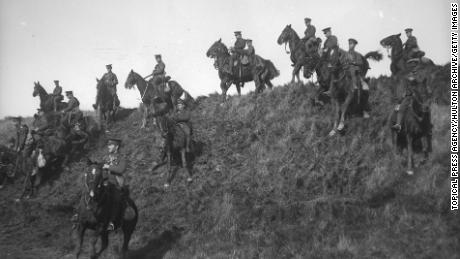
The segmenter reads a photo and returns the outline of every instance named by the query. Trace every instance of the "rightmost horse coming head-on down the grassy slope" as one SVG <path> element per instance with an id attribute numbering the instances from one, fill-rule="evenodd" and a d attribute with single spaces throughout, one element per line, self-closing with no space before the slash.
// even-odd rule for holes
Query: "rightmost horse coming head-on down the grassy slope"
<path id="1" fill-rule="evenodd" d="M 431 111 L 429 109 L 431 98 L 428 97 L 428 89 L 426 82 L 425 87 L 412 89 L 411 94 L 406 94 L 403 98 L 398 111 L 393 110 L 389 117 L 389 127 L 391 129 L 392 143 L 395 147 L 395 153 L 401 153 L 407 148 L 407 174 L 412 175 L 414 160 L 414 151 L 421 151 L 424 154 L 422 162 L 428 159 L 431 152 L 432 124 Z M 401 128 L 396 130 L 393 125 L 396 124 L 398 113 L 401 113 Z"/>

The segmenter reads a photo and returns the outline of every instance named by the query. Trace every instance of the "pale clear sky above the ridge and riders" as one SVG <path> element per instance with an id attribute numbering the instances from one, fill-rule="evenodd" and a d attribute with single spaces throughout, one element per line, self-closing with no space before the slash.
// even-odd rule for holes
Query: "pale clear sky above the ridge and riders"
<path id="1" fill-rule="evenodd" d="M 450 58 L 450 2 L 445 0 L 0 0 L 0 118 L 32 115 L 39 99 L 34 81 L 47 90 L 60 80 L 72 90 L 80 108 L 90 110 L 96 77 L 113 64 L 123 107 L 137 107 L 140 94 L 124 88 L 131 69 L 148 75 L 155 54 L 166 72 L 192 96 L 220 93 L 219 78 L 208 48 L 219 38 L 230 46 L 233 32 L 251 38 L 256 53 L 274 62 L 291 78 L 291 62 L 276 40 L 287 24 L 300 36 L 311 17 L 317 36 L 332 27 L 339 45 L 359 41 L 357 50 L 385 50 L 379 41 L 412 27 L 419 46 L 437 64 Z M 389 59 L 371 62 L 370 76 L 389 75 Z M 305 79 L 304 79 L 305 81 Z M 254 90 L 245 85 L 243 93 Z M 229 90 L 235 94 L 234 87 Z"/>

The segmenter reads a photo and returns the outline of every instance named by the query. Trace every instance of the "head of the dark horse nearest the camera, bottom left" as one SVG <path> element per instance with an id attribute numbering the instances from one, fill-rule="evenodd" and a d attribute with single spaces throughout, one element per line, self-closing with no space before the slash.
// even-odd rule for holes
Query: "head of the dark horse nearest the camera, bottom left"
<path id="1" fill-rule="evenodd" d="M 102 164 L 88 160 L 89 169 L 85 172 L 85 188 L 90 200 L 100 199 L 103 191 Z"/>

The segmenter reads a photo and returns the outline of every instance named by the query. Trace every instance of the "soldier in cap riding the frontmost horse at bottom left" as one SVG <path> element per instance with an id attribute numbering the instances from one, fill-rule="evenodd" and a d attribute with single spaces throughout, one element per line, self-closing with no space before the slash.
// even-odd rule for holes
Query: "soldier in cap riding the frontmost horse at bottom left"
<path id="1" fill-rule="evenodd" d="M 115 229 L 115 223 L 119 222 L 119 216 L 126 207 L 126 197 L 129 195 L 125 185 L 124 173 L 126 171 L 126 158 L 120 154 L 121 140 L 111 138 L 107 142 L 108 155 L 104 157 L 104 186 L 109 189 L 111 199 L 111 213 L 107 230 Z M 119 206 L 122 204 L 122 206 Z"/>

